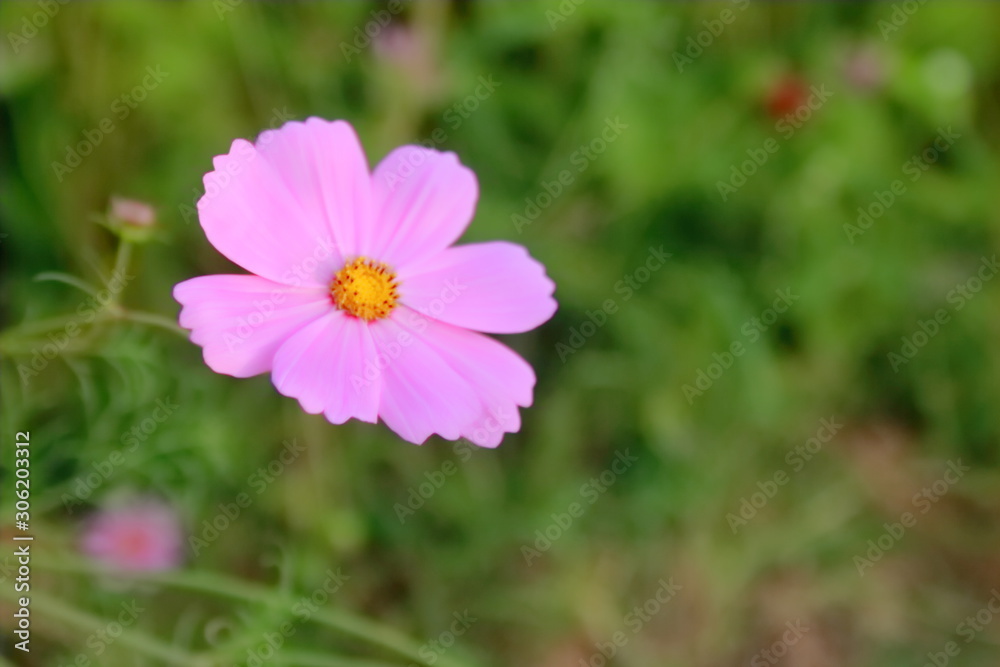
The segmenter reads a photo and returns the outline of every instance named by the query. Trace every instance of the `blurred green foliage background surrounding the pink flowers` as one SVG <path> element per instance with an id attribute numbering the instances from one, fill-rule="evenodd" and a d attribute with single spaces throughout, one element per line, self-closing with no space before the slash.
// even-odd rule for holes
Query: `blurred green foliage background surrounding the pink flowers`
<path id="1" fill-rule="evenodd" d="M 1000 6 L 40 1 L 3 3 L 0 33 L 0 524 L 30 430 L 36 535 L 22 654 L 5 530 L 9 660 L 997 664 Z M 522 243 L 556 281 L 556 316 L 505 337 L 538 385 L 499 449 L 332 426 L 128 316 L 174 320 L 175 283 L 232 270 L 194 213 L 212 156 L 313 115 L 371 164 L 455 151 L 481 189 L 464 240 Z M 87 299 L 39 274 L 101 285 L 116 195 L 158 217 L 121 306 L 24 373 Z M 179 407 L 80 498 L 161 399 Z M 78 554 L 84 517 L 131 493 L 179 513 L 177 571 Z"/>

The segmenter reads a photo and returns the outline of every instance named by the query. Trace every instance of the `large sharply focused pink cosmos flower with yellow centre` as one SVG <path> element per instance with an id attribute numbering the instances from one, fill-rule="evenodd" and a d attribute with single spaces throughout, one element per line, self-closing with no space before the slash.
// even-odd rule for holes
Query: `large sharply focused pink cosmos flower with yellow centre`
<path id="1" fill-rule="evenodd" d="M 402 146 L 369 172 L 353 128 L 309 118 L 233 142 L 198 201 L 201 226 L 253 275 L 174 288 L 181 326 L 217 373 L 270 372 L 334 424 L 379 417 L 402 438 L 500 444 L 532 402 L 531 366 L 484 333 L 556 310 L 518 245 L 452 246 L 475 175 L 453 153 Z"/>

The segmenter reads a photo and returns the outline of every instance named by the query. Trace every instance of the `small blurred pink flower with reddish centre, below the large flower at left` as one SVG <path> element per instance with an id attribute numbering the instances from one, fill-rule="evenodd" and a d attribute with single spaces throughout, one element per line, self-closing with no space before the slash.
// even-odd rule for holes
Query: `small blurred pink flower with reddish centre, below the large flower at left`
<path id="1" fill-rule="evenodd" d="M 151 572 L 180 564 L 183 538 L 174 511 L 146 499 L 99 512 L 84 531 L 81 547 L 114 569 Z"/>

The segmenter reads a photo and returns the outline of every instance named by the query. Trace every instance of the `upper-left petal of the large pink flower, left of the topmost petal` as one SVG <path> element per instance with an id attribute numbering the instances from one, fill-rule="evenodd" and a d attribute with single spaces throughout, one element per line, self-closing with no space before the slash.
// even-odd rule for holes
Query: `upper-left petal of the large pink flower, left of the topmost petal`
<path id="1" fill-rule="evenodd" d="M 306 208 L 248 141 L 234 141 L 214 164 L 198 219 L 216 250 L 275 282 L 326 285 L 343 264 L 326 218 Z"/>

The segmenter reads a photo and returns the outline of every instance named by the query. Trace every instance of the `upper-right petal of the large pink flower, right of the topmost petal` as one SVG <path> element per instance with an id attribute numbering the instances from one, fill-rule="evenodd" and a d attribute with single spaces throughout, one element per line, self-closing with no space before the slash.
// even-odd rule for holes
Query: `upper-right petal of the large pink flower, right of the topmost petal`
<path id="1" fill-rule="evenodd" d="M 479 186 L 454 153 L 401 146 L 372 175 L 377 210 L 361 254 L 399 270 L 447 248 L 472 221 Z"/>

